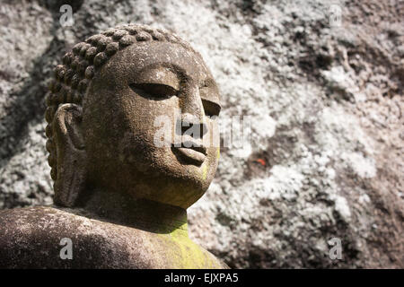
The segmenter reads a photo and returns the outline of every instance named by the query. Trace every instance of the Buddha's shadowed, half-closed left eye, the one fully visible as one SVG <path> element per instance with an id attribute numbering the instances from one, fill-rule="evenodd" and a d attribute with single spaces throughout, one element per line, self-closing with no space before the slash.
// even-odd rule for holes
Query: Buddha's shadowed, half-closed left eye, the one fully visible
<path id="1" fill-rule="evenodd" d="M 178 94 L 178 91 L 163 83 L 132 83 L 130 89 L 139 96 L 151 100 L 165 100 Z"/>

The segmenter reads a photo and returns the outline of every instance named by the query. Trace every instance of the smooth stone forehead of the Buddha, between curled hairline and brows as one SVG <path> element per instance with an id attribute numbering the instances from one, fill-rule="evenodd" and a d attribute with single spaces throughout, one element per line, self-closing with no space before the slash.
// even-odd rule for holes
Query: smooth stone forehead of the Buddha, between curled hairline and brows
<path id="1" fill-rule="evenodd" d="M 151 70 L 154 73 L 148 73 Z M 198 53 L 180 44 L 154 41 L 131 45 L 120 50 L 101 66 L 100 73 L 93 81 L 103 87 L 108 86 L 108 89 L 122 89 L 127 84 L 144 79 L 145 74 L 149 75 L 146 78 L 159 76 L 155 70 L 160 71 L 164 79 L 173 78 L 165 74 L 171 71 L 180 80 L 185 77 L 189 83 L 198 85 L 199 88 L 208 87 L 208 92 L 201 93 L 201 98 L 220 105 L 217 85 L 204 60 Z"/>

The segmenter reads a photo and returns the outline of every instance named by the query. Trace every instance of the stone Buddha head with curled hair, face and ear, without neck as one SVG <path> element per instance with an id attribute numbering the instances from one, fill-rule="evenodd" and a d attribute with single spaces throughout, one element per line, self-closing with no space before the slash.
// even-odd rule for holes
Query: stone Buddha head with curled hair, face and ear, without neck
<path id="1" fill-rule="evenodd" d="M 102 189 L 186 209 L 206 192 L 219 93 L 187 42 L 143 25 L 106 30 L 66 53 L 49 90 L 56 204 L 80 205 Z"/>

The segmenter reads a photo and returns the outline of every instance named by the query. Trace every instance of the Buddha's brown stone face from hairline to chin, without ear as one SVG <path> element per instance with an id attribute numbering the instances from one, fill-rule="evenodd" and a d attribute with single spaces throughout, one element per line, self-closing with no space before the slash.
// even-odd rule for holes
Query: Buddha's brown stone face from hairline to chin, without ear
<path id="1" fill-rule="evenodd" d="M 219 111 L 217 86 L 199 55 L 158 41 L 119 51 L 83 101 L 89 183 L 188 208 L 215 175 Z"/>

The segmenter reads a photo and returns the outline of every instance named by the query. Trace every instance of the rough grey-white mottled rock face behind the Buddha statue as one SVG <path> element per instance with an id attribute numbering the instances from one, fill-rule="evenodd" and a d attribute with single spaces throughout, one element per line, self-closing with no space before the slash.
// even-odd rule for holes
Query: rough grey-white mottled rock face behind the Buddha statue
<path id="1" fill-rule="evenodd" d="M 61 27 L 71 4 L 75 24 Z M 232 267 L 404 267 L 404 3 L 0 2 L 0 208 L 51 203 L 44 98 L 67 49 L 119 23 L 173 30 L 222 92 L 224 126 L 250 116 L 253 144 L 224 148 L 189 209 L 193 239 Z M 331 22 L 331 24 L 334 22 Z M 329 257 L 329 239 L 342 258 Z"/>

